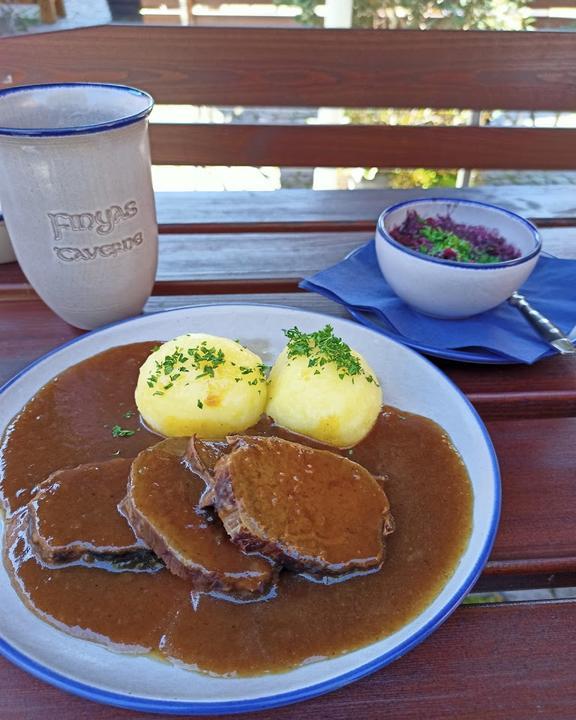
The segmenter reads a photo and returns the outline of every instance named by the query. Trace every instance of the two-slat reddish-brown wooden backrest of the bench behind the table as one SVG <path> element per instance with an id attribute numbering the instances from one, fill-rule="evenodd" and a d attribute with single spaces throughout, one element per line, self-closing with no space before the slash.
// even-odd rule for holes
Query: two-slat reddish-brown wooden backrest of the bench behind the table
<path id="1" fill-rule="evenodd" d="M 105 81 L 159 103 L 573 110 L 576 36 L 110 25 L 0 41 L 0 81 Z M 576 131 L 156 125 L 157 163 L 566 169 Z"/>

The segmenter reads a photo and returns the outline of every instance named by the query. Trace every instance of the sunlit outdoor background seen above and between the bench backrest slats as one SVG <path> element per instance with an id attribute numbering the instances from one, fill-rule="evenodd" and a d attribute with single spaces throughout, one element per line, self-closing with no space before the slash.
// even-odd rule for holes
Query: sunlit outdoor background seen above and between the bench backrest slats
<path id="1" fill-rule="evenodd" d="M 0 0 L 0 35 L 103 23 L 217 27 L 333 27 L 421 30 L 576 30 L 576 0 L 65 0 L 66 17 L 37 3 Z M 361 47 L 358 48 L 361 52 Z M 491 125 L 576 127 L 576 113 L 472 112 L 429 108 L 242 108 L 159 105 L 152 122 L 262 124 Z M 576 184 L 576 172 L 458 168 L 279 168 L 154 166 L 164 191 L 466 187 Z"/>

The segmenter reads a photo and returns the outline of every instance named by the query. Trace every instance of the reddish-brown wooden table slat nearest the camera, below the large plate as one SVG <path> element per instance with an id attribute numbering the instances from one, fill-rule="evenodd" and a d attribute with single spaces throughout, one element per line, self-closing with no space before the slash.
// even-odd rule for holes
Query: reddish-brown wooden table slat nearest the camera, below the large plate
<path id="1" fill-rule="evenodd" d="M 465 606 L 403 658 L 353 685 L 261 720 L 573 720 L 576 603 Z M 3 717 L 160 720 L 66 695 L 0 659 Z M 481 710 L 479 710 L 481 708 Z M 237 715 L 253 720 L 254 715 Z"/>

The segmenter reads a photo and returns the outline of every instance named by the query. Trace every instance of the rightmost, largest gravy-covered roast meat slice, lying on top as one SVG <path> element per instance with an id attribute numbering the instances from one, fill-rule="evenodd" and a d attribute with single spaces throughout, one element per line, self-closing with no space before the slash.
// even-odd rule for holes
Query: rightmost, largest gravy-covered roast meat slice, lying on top
<path id="1" fill-rule="evenodd" d="M 277 437 L 230 442 L 215 466 L 215 507 L 239 547 L 317 575 L 381 566 L 393 521 L 365 468 Z"/>

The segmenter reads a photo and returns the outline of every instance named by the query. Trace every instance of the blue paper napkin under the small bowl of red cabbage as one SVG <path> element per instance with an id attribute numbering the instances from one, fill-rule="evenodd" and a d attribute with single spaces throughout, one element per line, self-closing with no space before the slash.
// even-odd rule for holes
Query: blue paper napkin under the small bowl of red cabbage
<path id="1" fill-rule="evenodd" d="M 372 313 L 397 335 L 430 348 L 480 349 L 504 362 L 528 365 L 550 354 L 550 345 L 508 303 L 466 320 L 437 320 L 412 310 L 384 280 L 374 241 L 303 280 L 300 287 L 349 309 Z M 576 260 L 541 256 L 520 292 L 565 334 L 576 325 Z"/>

